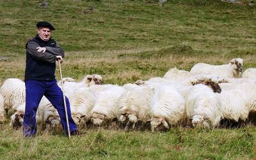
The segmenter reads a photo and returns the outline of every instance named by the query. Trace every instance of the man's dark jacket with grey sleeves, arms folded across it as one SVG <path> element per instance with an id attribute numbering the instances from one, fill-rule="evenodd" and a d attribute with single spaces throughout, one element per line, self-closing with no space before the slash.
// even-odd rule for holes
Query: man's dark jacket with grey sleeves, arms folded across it
<path id="1" fill-rule="evenodd" d="M 45 47 L 46 51 L 38 52 L 36 47 Z M 26 70 L 25 81 L 33 80 L 53 80 L 55 79 L 56 56 L 64 57 L 64 51 L 50 38 L 48 41 L 42 40 L 38 35 L 26 44 Z"/>

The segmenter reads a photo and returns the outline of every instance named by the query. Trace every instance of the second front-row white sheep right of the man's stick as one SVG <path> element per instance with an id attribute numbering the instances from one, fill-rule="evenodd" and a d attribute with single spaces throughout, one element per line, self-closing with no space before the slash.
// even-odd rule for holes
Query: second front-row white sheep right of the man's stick
<path id="1" fill-rule="evenodd" d="M 104 122 L 114 120 L 118 113 L 118 99 L 125 90 L 121 86 L 112 86 L 97 96 L 91 111 L 94 125 L 102 125 Z"/>

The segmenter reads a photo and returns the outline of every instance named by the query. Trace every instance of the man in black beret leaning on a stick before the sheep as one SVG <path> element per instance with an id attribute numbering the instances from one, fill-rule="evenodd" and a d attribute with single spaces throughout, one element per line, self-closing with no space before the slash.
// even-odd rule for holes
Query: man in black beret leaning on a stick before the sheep
<path id="1" fill-rule="evenodd" d="M 57 109 L 61 124 L 68 134 L 63 93 L 56 83 L 55 69 L 56 61 L 63 61 L 64 52 L 51 38 L 51 31 L 55 28 L 49 22 L 38 22 L 36 24 L 38 35 L 29 40 L 26 44 L 26 109 L 23 122 L 23 134 L 26 137 L 36 134 L 36 110 L 39 102 L 45 96 Z M 65 97 L 67 104 L 68 121 L 70 134 L 77 134 L 77 127 L 72 119 L 70 104 Z"/>

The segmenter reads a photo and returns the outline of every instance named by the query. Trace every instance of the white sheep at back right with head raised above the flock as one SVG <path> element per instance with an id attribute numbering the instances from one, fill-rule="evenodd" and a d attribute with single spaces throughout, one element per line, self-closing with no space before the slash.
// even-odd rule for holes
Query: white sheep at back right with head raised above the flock
<path id="1" fill-rule="evenodd" d="M 227 65 L 209 65 L 197 63 L 191 68 L 191 73 L 214 74 L 215 76 L 241 77 L 243 71 L 243 59 L 234 58 Z"/>

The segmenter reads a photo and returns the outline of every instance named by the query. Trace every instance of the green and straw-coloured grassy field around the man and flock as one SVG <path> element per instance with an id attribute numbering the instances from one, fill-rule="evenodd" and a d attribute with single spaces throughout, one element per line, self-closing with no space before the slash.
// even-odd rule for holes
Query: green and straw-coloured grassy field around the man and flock
<path id="1" fill-rule="evenodd" d="M 101 74 L 104 83 L 125 84 L 163 76 L 169 68 L 228 63 L 243 58 L 256 67 L 256 5 L 217 0 L 141 1 L 0 0 L 0 82 L 24 78 L 26 41 L 39 20 L 66 51 L 63 76 Z M 244 1 L 248 3 L 248 1 Z M 58 70 L 56 76 L 60 79 Z M 38 132 L 25 139 L 8 122 L 0 125 L 0 159 L 256 159 L 256 128 L 124 132 L 89 129 L 63 137 Z"/>

